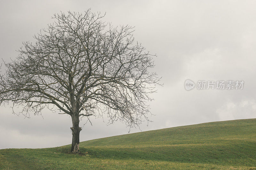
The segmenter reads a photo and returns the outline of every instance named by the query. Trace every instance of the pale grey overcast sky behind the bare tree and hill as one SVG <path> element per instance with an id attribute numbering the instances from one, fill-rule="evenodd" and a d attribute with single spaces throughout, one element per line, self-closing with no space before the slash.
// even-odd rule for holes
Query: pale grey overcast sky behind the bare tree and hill
<path id="1" fill-rule="evenodd" d="M 135 26 L 134 37 L 156 53 L 164 86 L 152 95 L 152 116 L 133 132 L 256 118 L 256 1 L 0 1 L 0 58 L 10 62 L 22 41 L 53 22 L 60 11 L 106 12 L 113 25 Z M 1 61 L 3 63 L 3 61 Z M 2 70 L 4 71 L 4 70 Z M 184 82 L 244 80 L 242 90 L 186 91 Z M 19 108 L 17 108 L 18 110 Z M 126 134 L 121 122 L 91 118 L 80 141 Z M 83 123 L 80 122 L 80 126 Z M 0 149 L 70 144 L 71 118 L 48 110 L 42 116 L 11 114 L 0 107 Z"/>

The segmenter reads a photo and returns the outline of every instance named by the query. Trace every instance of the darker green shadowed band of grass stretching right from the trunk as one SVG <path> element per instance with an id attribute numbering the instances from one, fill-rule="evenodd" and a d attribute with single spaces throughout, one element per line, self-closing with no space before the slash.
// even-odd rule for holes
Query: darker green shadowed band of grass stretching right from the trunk
<path id="1" fill-rule="evenodd" d="M 81 155 L 88 152 L 90 158 L 137 159 L 172 161 L 182 163 L 213 163 L 220 165 L 256 165 L 256 143 L 232 142 L 222 144 L 197 145 L 155 145 L 148 147 L 80 147 Z M 62 153 L 70 152 L 70 147 L 56 148 Z"/>

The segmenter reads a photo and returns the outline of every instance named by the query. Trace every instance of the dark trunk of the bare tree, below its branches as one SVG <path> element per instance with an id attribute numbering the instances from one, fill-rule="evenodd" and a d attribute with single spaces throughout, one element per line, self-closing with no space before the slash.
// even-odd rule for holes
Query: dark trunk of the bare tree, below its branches
<path id="1" fill-rule="evenodd" d="M 81 127 L 79 127 L 79 115 L 74 114 L 71 116 L 72 118 L 72 124 L 73 127 L 70 129 L 72 130 L 72 146 L 71 146 L 71 152 L 73 153 L 79 153 L 79 134 L 80 131 L 82 130 Z"/>

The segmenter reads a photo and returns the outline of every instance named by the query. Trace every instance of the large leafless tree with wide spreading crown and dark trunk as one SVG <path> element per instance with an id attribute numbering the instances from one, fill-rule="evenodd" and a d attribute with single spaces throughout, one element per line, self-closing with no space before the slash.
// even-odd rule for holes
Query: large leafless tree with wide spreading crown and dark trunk
<path id="1" fill-rule="evenodd" d="M 44 107 L 72 118 L 71 152 L 79 152 L 79 122 L 108 115 L 134 127 L 148 120 L 148 94 L 159 82 L 153 56 L 134 41 L 131 26 L 113 27 L 105 15 L 68 12 L 23 42 L 20 55 L 0 75 L 0 104 L 40 115 Z"/>

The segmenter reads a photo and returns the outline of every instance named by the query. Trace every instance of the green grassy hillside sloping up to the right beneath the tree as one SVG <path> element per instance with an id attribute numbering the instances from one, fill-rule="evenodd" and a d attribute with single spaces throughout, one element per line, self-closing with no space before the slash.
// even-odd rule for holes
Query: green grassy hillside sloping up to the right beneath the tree
<path id="1" fill-rule="evenodd" d="M 256 169 L 256 119 L 152 130 L 45 149 L 2 149 L 0 169 Z"/>

